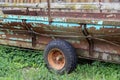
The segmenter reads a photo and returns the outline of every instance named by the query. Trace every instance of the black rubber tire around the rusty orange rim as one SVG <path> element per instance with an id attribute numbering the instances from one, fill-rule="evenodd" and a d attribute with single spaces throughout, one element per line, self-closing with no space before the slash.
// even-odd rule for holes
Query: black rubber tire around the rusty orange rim
<path id="1" fill-rule="evenodd" d="M 57 48 L 61 50 L 65 57 L 65 65 L 60 70 L 55 70 L 51 67 L 48 62 L 48 54 L 51 49 Z M 75 49 L 72 47 L 70 43 L 64 40 L 53 40 L 51 41 L 44 50 L 44 61 L 46 63 L 47 68 L 50 71 L 55 71 L 59 74 L 70 73 L 76 68 L 77 65 L 77 55 Z"/>

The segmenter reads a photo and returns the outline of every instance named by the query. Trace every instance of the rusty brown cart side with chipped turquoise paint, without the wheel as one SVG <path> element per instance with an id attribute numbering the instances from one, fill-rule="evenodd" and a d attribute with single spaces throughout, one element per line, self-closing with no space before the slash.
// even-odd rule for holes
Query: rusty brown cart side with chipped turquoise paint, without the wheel
<path id="1" fill-rule="evenodd" d="M 120 63 L 120 12 L 94 5 L 83 5 L 83 10 L 67 5 L 50 13 L 39 7 L 5 6 L 0 44 L 43 50 L 51 40 L 64 39 L 80 57 Z"/>

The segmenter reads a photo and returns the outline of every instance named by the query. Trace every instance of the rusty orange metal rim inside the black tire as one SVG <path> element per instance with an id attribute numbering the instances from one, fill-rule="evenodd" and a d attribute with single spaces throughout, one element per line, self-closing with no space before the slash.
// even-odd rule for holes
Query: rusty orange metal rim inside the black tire
<path id="1" fill-rule="evenodd" d="M 60 70 L 65 66 L 65 57 L 61 50 L 52 49 L 48 53 L 48 63 L 53 69 Z"/>

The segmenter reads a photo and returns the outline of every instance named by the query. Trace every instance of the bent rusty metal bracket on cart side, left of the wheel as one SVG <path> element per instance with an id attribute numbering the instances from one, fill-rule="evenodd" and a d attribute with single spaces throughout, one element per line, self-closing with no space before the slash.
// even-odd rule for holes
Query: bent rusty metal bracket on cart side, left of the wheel
<path id="1" fill-rule="evenodd" d="M 32 47 L 36 46 L 36 34 L 33 31 L 33 28 L 30 24 L 26 23 L 26 20 L 22 20 L 23 21 L 23 27 L 28 30 L 28 33 L 32 36 Z"/>

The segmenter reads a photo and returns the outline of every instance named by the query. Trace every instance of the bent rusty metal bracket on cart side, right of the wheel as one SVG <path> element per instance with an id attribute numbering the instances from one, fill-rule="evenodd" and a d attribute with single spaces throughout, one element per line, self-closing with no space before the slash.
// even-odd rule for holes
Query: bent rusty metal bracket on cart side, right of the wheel
<path id="1" fill-rule="evenodd" d="M 86 36 L 86 40 L 88 41 L 89 44 L 89 54 L 92 56 L 93 54 L 93 49 L 94 49 L 94 41 L 92 36 L 88 33 L 86 24 L 81 24 L 82 25 L 82 32 Z"/>

